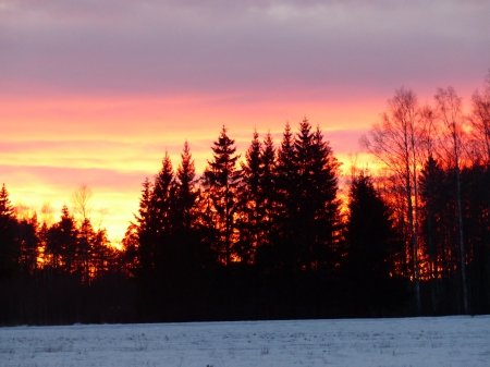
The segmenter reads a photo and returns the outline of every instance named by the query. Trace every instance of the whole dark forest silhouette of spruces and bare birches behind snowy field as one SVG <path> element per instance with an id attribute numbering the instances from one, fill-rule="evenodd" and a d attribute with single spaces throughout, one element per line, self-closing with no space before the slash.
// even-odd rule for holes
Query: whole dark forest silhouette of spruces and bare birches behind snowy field
<path id="1" fill-rule="evenodd" d="M 58 220 L 0 191 L 0 325 L 490 313 L 490 73 L 467 110 L 452 87 L 389 99 L 345 171 L 320 126 L 225 126 L 197 173 L 185 142 L 142 184 L 122 248 L 81 186 Z"/>

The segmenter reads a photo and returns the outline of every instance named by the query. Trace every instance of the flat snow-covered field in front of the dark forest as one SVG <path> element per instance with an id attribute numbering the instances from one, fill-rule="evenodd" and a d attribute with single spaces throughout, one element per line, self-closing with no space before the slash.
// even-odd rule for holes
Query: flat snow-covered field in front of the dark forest
<path id="1" fill-rule="evenodd" d="M 490 316 L 0 328 L 0 366 L 490 366 Z"/>

